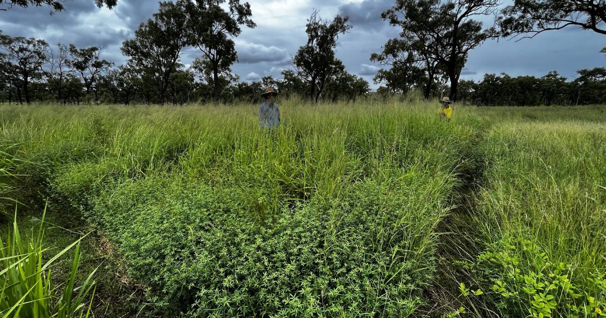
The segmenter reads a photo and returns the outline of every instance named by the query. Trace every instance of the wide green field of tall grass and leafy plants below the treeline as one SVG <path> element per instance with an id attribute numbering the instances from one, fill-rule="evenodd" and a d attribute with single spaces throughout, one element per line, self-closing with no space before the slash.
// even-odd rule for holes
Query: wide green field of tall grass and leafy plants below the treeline
<path id="1" fill-rule="evenodd" d="M 1 107 L 18 223 L 96 317 L 604 315 L 605 106 L 255 108 Z"/>

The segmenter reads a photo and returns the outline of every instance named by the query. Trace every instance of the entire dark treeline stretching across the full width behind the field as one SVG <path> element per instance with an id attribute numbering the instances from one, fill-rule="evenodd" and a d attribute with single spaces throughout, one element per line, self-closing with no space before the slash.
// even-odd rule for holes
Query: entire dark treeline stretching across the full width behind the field
<path id="1" fill-rule="evenodd" d="M 370 60 L 382 65 L 373 79 L 379 96 L 421 92 L 424 98 L 450 96 L 477 105 L 577 105 L 604 103 L 605 70 L 579 70 L 567 82 L 555 71 L 536 78 L 485 75 L 462 81 L 468 53 L 488 39 L 536 35 L 559 30 L 561 22 L 606 34 L 603 6 L 564 6 L 547 0 L 516 1 L 500 8 L 495 0 L 401 0 L 381 18 L 401 29 Z M 48 4 L 30 0 L 13 5 Z M 115 0 L 96 4 L 112 7 Z M 55 10 L 61 10 L 61 5 Z M 545 14 L 549 12 L 550 14 Z M 242 82 L 231 66 L 238 61 L 233 39 L 242 27 L 254 28 L 248 2 L 178 0 L 160 2 L 158 12 L 122 43 L 125 65 L 101 58 L 102 48 L 59 44 L 3 35 L 0 31 L 0 101 L 67 103 L 186 104 L 190 102 L 258 102 L 259 93 L 275 86 L 285 95 L 311 101 L 351 100 L 370 94 L 364 79 L 345 71 L 335 57 L 339 36 L 351 29 L 346 15 L 331 20 L 315 11 L 307 20 L 307 42 L 290 60 L 282 79 L 271 76 Z M 494 16 L 484 27 L 475 18 Z M 585 21 L 582 17 L 590 19 Z M 563 27 L 563 26 L 562 26 Z M 199 56 L 185 67 L 181 53 L 196 48 Z M 606 53 L 606 48 L 602 50 Z M 445 83 L 448 83 L 445 84 Z"/>

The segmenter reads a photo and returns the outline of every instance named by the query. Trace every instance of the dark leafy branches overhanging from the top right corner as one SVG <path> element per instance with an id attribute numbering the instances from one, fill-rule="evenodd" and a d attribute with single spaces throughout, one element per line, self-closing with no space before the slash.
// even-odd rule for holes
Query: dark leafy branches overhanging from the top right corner
<path id="1" fill-rule="evenodd" d="M 606 35 L 604 0 L 515 0 L 504 8 L 500 23 L 505 36 L 561 30 L 569 26 Z"/>

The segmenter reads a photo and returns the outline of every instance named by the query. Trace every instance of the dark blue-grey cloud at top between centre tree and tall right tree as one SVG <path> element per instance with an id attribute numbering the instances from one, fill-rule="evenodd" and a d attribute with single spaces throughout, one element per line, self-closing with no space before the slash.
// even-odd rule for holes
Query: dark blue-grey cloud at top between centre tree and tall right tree
<path id="1" fill-rule="evenodd" d="M 379 31 L 387 24 L 381 19 L 381 13 L 393 5 L 393 0 L 364 0 L 359 3 L 341 5 L 339 12 L 348 15 L 350 23 L 354 27 Z"/>

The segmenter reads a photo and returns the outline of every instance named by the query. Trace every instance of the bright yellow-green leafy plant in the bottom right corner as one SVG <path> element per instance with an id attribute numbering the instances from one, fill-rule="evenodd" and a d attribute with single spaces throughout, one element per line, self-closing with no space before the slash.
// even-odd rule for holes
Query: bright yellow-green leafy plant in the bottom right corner
<path id="1" fill-rule="evenodd" d="M 504 316 L 606 316 L 604 273 L 575 276 L 573 265 L 551 262 L 547 252 L 531 240 L 505 237 L 470 267 L 482 273 L 490 287 L 487 297 L 494 299 Z M 588 283 L 577 283 L 582 279 Z"/>

